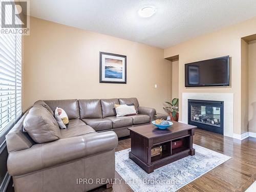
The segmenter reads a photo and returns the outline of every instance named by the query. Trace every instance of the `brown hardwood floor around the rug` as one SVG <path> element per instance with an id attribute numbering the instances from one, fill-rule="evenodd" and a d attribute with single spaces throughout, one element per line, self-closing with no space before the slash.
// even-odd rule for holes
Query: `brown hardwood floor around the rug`
<path id="1" fill-rule="evenodd" d="M 232 157 L 230 160 L 210 170 L 178 191 L 245 191 L 256 180 L 256 138 L 242 141 L 219 134 L 196 129 L 194 143 L 210 150 Z M 131 139 L 119 140 L 116 151 L 130 148 Z M 116 172 L 116 178 L 121 177 Z M 122 181 L 113 188 L 98 188 L 94 191 L 133 191 Z"/>

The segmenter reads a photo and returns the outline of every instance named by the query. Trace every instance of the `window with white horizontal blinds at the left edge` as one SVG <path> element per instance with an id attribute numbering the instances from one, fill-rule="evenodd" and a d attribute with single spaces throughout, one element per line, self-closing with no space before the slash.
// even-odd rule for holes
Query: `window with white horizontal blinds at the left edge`
<path id="1" fill-rule="evenodd" d="M 6 16 L 11 19 L 11 13 Z M 0 34 L 0 136 L 14 125 L 21 115 L 22 36 Z"/>

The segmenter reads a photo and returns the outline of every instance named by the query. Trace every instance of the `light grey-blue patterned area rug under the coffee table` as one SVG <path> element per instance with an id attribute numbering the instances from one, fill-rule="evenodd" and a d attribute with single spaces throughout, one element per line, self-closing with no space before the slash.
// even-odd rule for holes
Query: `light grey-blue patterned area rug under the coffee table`
<path id="1" fill-rule="evenodd" d="M 116 171 L 136 192 L 176 191 L 231 158 L 196 144 L 193 146 L 196 155 L 155 169 L 151 174 L 129 159 L 131 148 L 128 148 L 115 153 Z"/>

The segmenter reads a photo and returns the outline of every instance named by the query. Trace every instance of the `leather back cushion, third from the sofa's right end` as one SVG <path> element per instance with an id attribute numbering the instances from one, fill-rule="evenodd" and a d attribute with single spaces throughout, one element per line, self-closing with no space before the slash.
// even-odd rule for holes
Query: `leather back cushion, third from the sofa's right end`
<path id="1" fill-rule="evenodd" d="M 99 99 L 79 99 L 80 119 L 102 118 Z"/>

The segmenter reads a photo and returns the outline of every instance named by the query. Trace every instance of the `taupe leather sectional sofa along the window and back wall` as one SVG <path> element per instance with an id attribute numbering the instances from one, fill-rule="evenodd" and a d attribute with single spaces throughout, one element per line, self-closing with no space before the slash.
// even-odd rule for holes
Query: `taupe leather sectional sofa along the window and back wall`
<path id="1" fill-rule="evenodd" d="M 134 103 L 138 115 L 116 117 L 114 104 L 130 103 Z M 45 124 L 33 133 L 24 132 L 24 121 L 32 121 L 25 122 L 31 127 L 38 115 L 47 114 L 41 117 L 43 121 L 37 119 L 39 124 L 49 115 L 51 120 L 47 121 L 54 121 L 57 106 L 66 111 L 69 126 L 58 130 L 54 141 L 45 142 L 49 139 Z M 108 184 L 96 181 L 115 178 L 118 137 L 129 136 L 127 127 L 150 123 L 154 117 L 155 109 L 139 106 L 136 98 L 37 101 L 6 136 L 8 172 L 15 191 L 88 191 Z M 40 129 L 44 133 L 37 134 Z M 93 183 L 77 183 L 79 179 L 92 179 Z"/>

